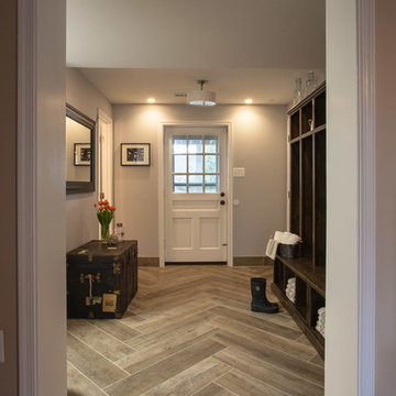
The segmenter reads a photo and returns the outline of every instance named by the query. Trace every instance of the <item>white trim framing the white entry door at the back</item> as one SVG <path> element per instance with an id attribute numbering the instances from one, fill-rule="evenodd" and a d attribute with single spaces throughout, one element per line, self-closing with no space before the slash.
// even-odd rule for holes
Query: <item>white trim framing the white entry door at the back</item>
<path id="1" fill-rule="evenodd" d="M 233 185 L 232 185 L 232 124 L 231 122 L 161 122 L 158 131 L 158 248 L 160 266 L 165 266 L 165 180 L 164 180 L 164 134 L 166 127 L 224 127 L 227 129 L 227 161 L 228 161 L 228 198 L 230 205 L 227 213 L 227 265 L 233 266 Z"/>

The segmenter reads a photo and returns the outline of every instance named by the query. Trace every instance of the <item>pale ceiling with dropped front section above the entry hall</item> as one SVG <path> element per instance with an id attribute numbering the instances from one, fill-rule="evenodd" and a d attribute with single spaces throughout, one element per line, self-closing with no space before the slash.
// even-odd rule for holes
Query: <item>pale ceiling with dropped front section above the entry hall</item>
<path id="1" fill-rule="evenodd" d="M 288 103 L 324 43 L 324 0 L 67 0 L 67 65 L 113 103 L 180 103 L 200 78 L 220 103 Z"/>

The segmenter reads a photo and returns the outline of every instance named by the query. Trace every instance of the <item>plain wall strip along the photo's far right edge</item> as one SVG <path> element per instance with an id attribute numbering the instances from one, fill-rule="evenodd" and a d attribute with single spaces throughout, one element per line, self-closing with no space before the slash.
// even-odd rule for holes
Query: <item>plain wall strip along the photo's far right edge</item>
<path id="1" fill-rule="evenodd" d="M 376 366 L 375 394 L 395 391 L 396 3 L 376 0 Z"/>

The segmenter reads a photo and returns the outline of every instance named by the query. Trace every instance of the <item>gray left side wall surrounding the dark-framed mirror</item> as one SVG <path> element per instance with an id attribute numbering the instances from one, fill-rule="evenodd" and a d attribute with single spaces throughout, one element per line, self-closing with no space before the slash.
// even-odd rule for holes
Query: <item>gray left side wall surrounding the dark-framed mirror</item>
<path id="1" fill-rule="evenodd" d="M 98 108 L 111 118 L 111 105 L 78 69 L 67 68 L 66 101 L 92 120 Z M 98 139 L 96 139 L 98 146 Z M 98 155 L 96 155 L 98 164 Z M 91 239 L 98 239 L 98 220 L 94 202 L 98 198 L 98 166 L 96 166 L 96 190 L 87 194 L 69 194 L 66 198 L 66 250 L 77 248 Z"/>

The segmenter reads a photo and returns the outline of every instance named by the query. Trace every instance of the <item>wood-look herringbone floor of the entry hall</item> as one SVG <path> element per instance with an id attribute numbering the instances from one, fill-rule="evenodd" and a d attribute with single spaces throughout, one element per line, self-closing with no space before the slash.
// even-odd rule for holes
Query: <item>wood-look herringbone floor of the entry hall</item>
<path id="1" fill-rule="evenodd" d="M 140 267 L 122 319 L 68 320 L 68 395 L 323 395 L 323 361 L 290 316 L 250 310 L 250 278 L 271 275 Z"/>

